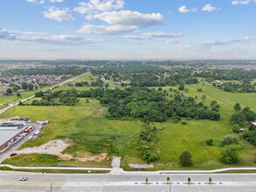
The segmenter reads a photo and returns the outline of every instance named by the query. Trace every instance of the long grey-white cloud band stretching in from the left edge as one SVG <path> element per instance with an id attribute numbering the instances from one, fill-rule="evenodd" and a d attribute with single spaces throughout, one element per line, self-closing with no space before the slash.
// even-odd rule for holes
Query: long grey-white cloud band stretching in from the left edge
<path id="1" fill-rule="evenodd" d="M 36 35 L 42 35 L 45 33 L 40 32 L 20 32 L 20 31 L 7 31 L 0 29 L 0 39 L 13 40 L 17 43 L 44 43 L 54 45 L 92 45 L 103 42 L 103 39 L 86 39 L 77 36 L 49 36 L 41 37 Z M 25 36 L 20 36 L 25 35 Z M 33 35 L 33 36 L 31 36 Z M 46 34 L 45 34 L 46 35 Z"/>

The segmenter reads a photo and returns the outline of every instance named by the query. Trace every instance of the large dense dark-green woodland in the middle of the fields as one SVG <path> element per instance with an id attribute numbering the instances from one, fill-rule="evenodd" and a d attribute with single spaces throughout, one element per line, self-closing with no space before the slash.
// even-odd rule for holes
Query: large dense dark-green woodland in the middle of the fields
<path id="1" fill-rule="evenodd" d="M 219 120 L 220 114 L 207 110 L 203 103 L 196 103 L 191 97 L 183 98 L 176 94 L 168 100 L 164 93 L 147 88 L 106 90 L 100 103 L 109 106 L 108 118 L 140 119 L 162 122 L 177 116 L 200 120 Z"/>

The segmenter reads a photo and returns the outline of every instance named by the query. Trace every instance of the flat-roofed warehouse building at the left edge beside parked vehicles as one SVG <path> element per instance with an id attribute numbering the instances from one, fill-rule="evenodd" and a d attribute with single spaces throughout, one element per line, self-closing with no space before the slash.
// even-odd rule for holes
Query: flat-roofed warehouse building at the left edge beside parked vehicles
<path id="1" fill-rule="evenodd" d="M 8 143 L 15 141 L 18 135 L 22 134 L 21 129 L 0 129 L 0 151 L 8 146 Z"/>

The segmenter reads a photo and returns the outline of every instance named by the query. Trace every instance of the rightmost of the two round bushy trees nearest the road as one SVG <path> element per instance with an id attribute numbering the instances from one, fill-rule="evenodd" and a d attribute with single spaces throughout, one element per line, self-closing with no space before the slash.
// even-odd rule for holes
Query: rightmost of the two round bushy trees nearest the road
<path id="1" fill-rule="evenodd" d="M 234 145 L 228 145 L 221 152 L 221 161 L 225 164 L 234 164 L 239 162 L 238 147 Z"/>

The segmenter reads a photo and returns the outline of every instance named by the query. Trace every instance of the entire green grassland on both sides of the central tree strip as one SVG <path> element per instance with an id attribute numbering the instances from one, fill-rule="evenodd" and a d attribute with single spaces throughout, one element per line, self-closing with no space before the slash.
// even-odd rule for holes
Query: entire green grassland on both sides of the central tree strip
<path id="1" fill-rule="evenodd" d="M 210 106 L 211 100 L 217 100 L 220 105 L 221 120 L 186 120 L 187 125 L 171 121 L 153 123 L 159 129 L 159 141 L 156 145 L 159 160 L 154 163 L 155 167 L 149 170 L 255 167 L 255 163 L 253 163 L 255 147 L 248 142 L 240 142 L 239 164 L 232 166 L 223 165 L 219 161 L 222 150 L 219 144 L 226 134 L 234 134 L 232 125 L 229 123 L 231 115 L 234 113 L 232 107 L 239 102 L 242 107 L 250 106 L 256 112 L 256 93 L 226 93 L 208 84 L 185 87 L 189 91 L 182 93 L 186 96 L 197 96 L 197 102 L 203 102 L 201 98 L 205 94 L 204 105 L 206 106 Z M 68 88 L 71 87 L 63 86 L 58 89 Z M 177 89 L 177 87 L 172 88 Z M 203 91 L 197 93 L 198 88 L 202 88 Z M 175 94 L 170 92 L 169 86 L 163 87 L 163 90 L 167 90 L 169 94 Z M 86 163 L 58 160 L 38 163 L 38 158 L 44 159 L 43 154 L 30 154 L 8 159 L 4 163 L 22 166 L 29 160 L 31 166 L 109 167 L 111 157 L 122 154 L 124 154 L 121 161 L 122 168 L 129 169 L 128 163 L 145 163 L 139 157 L 139 151 L 136 150 L 136 139 L 142 128 L 142 122 L 107 120 L 104 116 L 105 113 L 107 113 L 107 108 L 100 106 L 96 99 L 90 99 L 89 103 L 86 103 L 86 99 L 80 99 L 77 106 L 17 106 L 16 112 L 10 109 L 0 118 L 25 116 L 31 120 L 46 119 L 50 122 L 48 127 L 43 128 L 42 134 L 36 141 L 28 141 L 22 147 L 34 147 L 56 138 L 68 138 L 73 141 L 73 146 L 66 148 L 66 154 L 107 153 L 109 160 Z M 205 143 L 210 138 L 214 141 L 214 145 L 211 147 Z M 193 166 L 190 168 L 183 168 L 178 163 L 179 155 L 185 150 L 188 150 L 193 156 Z M 49 159 L 54 160 L 54 157 Z"/>

